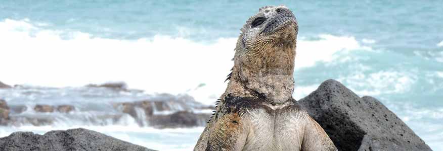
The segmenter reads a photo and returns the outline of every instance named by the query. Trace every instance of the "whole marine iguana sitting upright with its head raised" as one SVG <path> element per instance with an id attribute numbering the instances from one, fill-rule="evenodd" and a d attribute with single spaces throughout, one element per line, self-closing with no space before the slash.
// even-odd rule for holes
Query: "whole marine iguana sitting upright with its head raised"
<path id="1" fill-rule="evenodd" d="M 337 150 L 292 98 L 298 23 L 267 6 L 241 29 L 226 92 L 194 150 Z"/>

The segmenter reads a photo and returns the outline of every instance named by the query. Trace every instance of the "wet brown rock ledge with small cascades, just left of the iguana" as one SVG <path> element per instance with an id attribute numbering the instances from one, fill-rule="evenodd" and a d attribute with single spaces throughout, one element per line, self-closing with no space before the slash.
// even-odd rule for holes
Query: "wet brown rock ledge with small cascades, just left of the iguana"
<path id="1" fill-rule="evenodd" d="M 140 126 L 178 128 L 205 126 L 214 108 L 196 102 L 192 97 L 178 98 L 163 94 L 162 100 L 141 100 L 114 104 L 114 108 L 137 120 Z M 207 110 L 209 112 L 198 112 Z"/>

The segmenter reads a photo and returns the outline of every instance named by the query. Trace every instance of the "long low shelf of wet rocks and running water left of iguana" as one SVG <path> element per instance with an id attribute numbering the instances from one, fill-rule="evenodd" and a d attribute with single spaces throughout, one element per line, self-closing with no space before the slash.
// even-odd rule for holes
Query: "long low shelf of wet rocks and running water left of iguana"
<path id="1" fill-rule="evenodd" d="M 21 90 L 17 88 L 17 91 Z M 21 93 L 26 92 L 29 90 L 26 89 Z M 43 95 L 43 93 L 30 95 Z M 196 127 L 206 124 L 213 109 L 213 106 L 201 104 L 188 95 L 170 94 L 159 94 L 150 99 L 139 101 L 108 102 L 92 108 L 88 105 L 85 107 L 78 104 L 77 106 L 75 104 L 53 105 L 45 103 L 24 105 L 14 102 L 12 105 L 7 105 L 7 102 L 2 100 L 0 101 L 0 125 L 45 126 L 70 120 L 68 122 L 84 122 L 88 125 L 119 125 L 137 122 L 136 124 L 141 127 Z"/>

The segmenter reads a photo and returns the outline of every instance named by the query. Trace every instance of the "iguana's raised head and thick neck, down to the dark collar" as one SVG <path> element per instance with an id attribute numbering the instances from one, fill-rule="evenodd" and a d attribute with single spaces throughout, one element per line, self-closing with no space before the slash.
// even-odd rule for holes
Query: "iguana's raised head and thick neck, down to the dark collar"
<path id="1" fill-rule="evenodd" d="M 241 29 L 231 82 L 275 103 L 292 96 L 298 24 L 285 6 L 267 6 Z M 282 90 L 282 88 L 284 87 Z"/>

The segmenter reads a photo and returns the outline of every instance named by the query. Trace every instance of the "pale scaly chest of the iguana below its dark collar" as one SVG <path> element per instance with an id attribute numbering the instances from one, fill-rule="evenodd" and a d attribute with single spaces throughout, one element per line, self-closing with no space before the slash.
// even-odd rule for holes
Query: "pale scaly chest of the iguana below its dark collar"
<path id="1" fill-rule="evenodd" d="M 262 106 L 244 114 L 248 126 L 243 150 L 301 150 L 304 122 L 290 107 L 271 110 Z"/>

